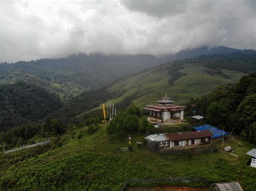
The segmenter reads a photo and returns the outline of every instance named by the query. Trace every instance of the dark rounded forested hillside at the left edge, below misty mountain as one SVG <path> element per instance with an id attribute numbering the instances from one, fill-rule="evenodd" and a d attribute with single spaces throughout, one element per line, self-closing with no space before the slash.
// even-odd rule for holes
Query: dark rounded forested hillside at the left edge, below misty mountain
<path id="1" fill-rule="evenodd" d="M 43 119 L 61 106 L 59 97 L 34 84 L 0 84 L 0 131 Z"/>

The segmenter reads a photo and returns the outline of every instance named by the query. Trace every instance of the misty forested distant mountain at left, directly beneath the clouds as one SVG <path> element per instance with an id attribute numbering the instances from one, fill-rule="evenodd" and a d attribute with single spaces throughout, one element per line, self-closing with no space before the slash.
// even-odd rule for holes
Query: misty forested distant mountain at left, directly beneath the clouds
<path id="1" fill-rule="evenodd" d="M 74 54 L 67 58 L 0 64 L 0 82 L 24 81 L 70 100 L 84 90 L 99 89 L 114 80 L 159 65 L 150 54 Z"/>

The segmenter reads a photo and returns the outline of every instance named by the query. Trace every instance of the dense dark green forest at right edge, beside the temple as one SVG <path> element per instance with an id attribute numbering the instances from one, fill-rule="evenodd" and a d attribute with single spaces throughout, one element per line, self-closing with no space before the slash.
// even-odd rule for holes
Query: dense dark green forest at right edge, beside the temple
<path id="1" fill-rule="evenodd" d="M 187 115 L 193 111 L 203 113 L 206 122 L 256 143 L 256 73 L 242 77 L 234 86 L 217 87 L 211 94 L 191 98 Z"/>

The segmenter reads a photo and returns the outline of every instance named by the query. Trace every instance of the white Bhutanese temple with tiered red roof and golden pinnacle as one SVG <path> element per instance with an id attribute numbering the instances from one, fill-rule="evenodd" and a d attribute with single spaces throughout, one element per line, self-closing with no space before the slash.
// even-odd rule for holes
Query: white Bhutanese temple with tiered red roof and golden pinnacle
<path id="1" fill-rule="evenodd" d="M 146 105 L 144 108 L 149 111 L 150 122 L 180 123 L 184 119 L 184 109 L 186 107 L 173 104 L 175 102 L 166 94 L 157 102 L 157 105 Z"/>

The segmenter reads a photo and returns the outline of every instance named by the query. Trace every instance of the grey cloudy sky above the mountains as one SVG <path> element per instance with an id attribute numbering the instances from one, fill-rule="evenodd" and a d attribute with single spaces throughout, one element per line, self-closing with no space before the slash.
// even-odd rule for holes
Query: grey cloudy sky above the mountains
<path id="1" fill-rule="evenodd" d="M 256 49 L 256 1 L 1 0 L 1 61 Z"/>

